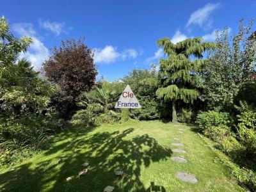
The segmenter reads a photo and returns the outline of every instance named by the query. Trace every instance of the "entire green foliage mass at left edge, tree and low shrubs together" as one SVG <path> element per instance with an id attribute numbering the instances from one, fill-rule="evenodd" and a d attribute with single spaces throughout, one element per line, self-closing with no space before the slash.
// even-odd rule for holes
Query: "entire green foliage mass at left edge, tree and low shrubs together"
<path id="1" fill-rule="evenodd" d="M 29 37 L 15 38 L 6 20 L 0 20 L 1 165 L 47 147 L 49 135 L 63 125 L 48 108 L 58 91 L 56 86 L 41 79 L 29 61 L 18 60 L 20 52 L 26 52 L 31 43 Z"/>

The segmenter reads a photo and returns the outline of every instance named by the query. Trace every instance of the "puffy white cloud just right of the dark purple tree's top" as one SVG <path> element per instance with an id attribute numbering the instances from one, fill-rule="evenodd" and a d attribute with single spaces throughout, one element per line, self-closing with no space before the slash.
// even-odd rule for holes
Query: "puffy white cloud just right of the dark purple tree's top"
<path id="1" fill-rule="evenodd" d="M 136 49 L 124 49 L 124 51 L 118 52 L 116 47 L 112 45 L 106 45 L 103 49 L 95 48 L 93 50 L 95 63 L 113 63 L 118 58 L 122 58 L 123 60 L 127 58 L 135 59 L 143 54 L 143 52 L 138 52 Z"/>

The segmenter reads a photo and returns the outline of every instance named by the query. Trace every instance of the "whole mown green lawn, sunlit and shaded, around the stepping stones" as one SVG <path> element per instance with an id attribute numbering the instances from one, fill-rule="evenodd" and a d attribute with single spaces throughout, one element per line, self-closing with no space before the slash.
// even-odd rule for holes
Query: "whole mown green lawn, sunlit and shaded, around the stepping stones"
<path id="1" fill-rule="evenodd" d="M 184 129 L 175 136 L 178 129 Z M 180 138 L 188 154 L 172 152 Z M 188 159 L 176 163 L 172 156 Z M 58 159 L 63 162 L 58 164 Z M 77 176 L 88 162 L 88 173 Z M 54 138 L 54 144 L 27 161 L 0 171 L 0 191 L 244 191 L 204 141 L 188 126 L 158 121 L 85 127 Z M 9 169 L 10 170 L 10 169 Z M 124 170 L 118 177 L 114 170 Z M 177 172 L 193 174 L 197 184 L 180 182 Z M 66 178 L 74 176 L 70 182 Z"/>

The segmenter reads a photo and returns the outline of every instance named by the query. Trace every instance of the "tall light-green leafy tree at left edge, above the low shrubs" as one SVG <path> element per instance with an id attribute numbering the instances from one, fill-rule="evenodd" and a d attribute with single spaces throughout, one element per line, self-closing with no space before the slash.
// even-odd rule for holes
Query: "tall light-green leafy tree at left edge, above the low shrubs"
<path id="1" fill-rule="evenodd" d="M 0 114 L 20 115 L 21 111 L 38 112 L 45 109 L 56 92 L 31 63 L 18 60 L 32 43 L 30 37 L 15 38 L 6 19 L 0 19 Z"/>

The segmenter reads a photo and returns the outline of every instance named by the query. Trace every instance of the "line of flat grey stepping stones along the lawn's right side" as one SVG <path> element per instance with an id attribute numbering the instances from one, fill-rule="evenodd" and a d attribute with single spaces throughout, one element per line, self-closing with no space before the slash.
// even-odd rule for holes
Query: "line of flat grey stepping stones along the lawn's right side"
<path id="1" fill-rule="evenodd" d="M 179 133 L 179 134 L 175 134 L 175 136 L 177 138 L 173 138 L 173 140 L 175 140 L 175 141 L 180 140 L 179 136 L 184 131 L 184 129 L 178 129 L 178 130 L 179 131 L 177 131 L 177 133 Z M 175 147 L 184 147 L 183 143 L 172 143 L 172 145 L 175 146 Z M 179 154 L 187 154 L 187 152 L 185 150 L 181 150 L 179 148 L 173 148 L 172 152 L 176 152 L 176 153 L 179 153 Z M 183 157 L 171 157 L 171 159 L 172 159 L 172 161 L 175 161 L 177 163 L 187 163 L 188 162 L 188 160 L 183 158 Z M 194 175 L 191 175 L 191 174 L 186 173 L 186 172 L 178 172 L 176 174 L 176 177 L 180 181 L 189 182 L 190 184 L 196 184 L 198 182 L 198 180 L 196 179 L 196 177 Z"/>

